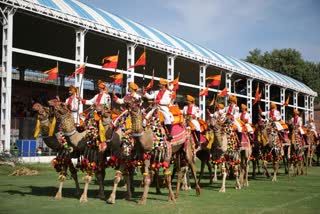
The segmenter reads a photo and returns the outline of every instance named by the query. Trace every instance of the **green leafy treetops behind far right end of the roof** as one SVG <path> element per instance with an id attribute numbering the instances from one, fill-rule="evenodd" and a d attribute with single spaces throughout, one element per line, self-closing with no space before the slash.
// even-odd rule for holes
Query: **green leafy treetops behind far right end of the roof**
<path id="1" fill-rule="evenodd" d="M 320 63 L 303 60 L 295 49 L 274 49 L 271 53 L 254 49 L 245 61 L 292 77 L 320 94 Z"/>

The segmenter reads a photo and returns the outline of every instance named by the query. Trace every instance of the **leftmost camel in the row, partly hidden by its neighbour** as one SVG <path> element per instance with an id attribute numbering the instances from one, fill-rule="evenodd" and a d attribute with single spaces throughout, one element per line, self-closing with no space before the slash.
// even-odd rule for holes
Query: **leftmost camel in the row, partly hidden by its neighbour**
<path id="1" fill-rule="evenodd" d="M 33 105 L 33 110 L 38 113 L 38 119 L 40 123 L 40 132 L 45 144 L 54 151 L 58 152 L 57 157 L 53 160 L 53 164 L 58 172 L 59 175 L 59 189 L 55 195 L 55 199 L 59 200 L 62 198 L 62 187 L 63 183 L 66 179 L 67 170 L 71 173 L 71 177 L 75 181 L 76 185 L 76 195 L 80 195 L 80 186 L 78 182 L 77 170 L 74 167 L 71 158 L 78 158 L 79 151 L 72 151 L 70 152 L 64 146 L 61 145 L 59 142 L 60 135 L 49 136 L 49 129 L 51 123 L 49 121 L 50 111 L 48 107 L 44 107 L 39 103 L 35 103 Z M 36 136 L 37 137 L 37 136 Z"/>

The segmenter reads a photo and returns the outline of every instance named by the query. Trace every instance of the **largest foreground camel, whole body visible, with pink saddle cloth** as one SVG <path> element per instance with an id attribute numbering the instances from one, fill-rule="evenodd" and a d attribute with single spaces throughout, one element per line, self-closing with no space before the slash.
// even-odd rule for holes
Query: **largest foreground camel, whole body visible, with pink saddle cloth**
<path id="1" fill-rule="evenodd" d="M 150 168 L 154 170 L 159 170 L 160 167 L 164 169 L 165 180 L 169 190 L 168 200 L 175 201 L 176 197 L 179 196 L 179 188 L 181 183 L 181 169 L 180 169 L 180 155 L 182 152 L 185 152 L 185 157 L 188 164 L 191 167 L 195 184 L 197 195 L 200 194 L 200 186 L 196 177 L 196 166 L 193 162 L 193 152 L 192 146 L 194 144 L 191 137 L 190 131 L 184 129 L 184 127 L 173 126 L 172 130 L 175 130 L 178 134 L 173 134 L 173 139 L 168 142 L 166 140 L 164 129 L 160 129 L 159 120 L 151 121 L 153 124 L 149 127 L 143 127 L 143 112 L 140 107 L 140 101 L 136 100 L 133 97 L 126 96 L 125 104 L 127 106 L 129 115 L 131 117 L 131 136 L 133 138 L 133 148 L 131 152 L 132 160 L 142 161 L 143 162 L 143 181 L 144 181 L 144 191 L 141 199 L 138 201 L 138 204 L 145 204 L 148 197 L 149 187 L 152 178 L 152 172 Z M 157 133 L 156 133 L 157 132 Z M 155 142 L 155 138 L 160 136 L 160 140 Z M 157 148 L 157 149 L 156 149 Z M 176 154 L 178 161 L 178 182 L 177 182 L 177 192 L 174 195 L 171 186 L 171 172 L 169 170 L 169 163 L 172 157 L 172 154 Z M 127 170 L 128 179 L 127 179 L 127 199 L 131 197 L 131 185 L 133 181 L 133 170 Z"/>

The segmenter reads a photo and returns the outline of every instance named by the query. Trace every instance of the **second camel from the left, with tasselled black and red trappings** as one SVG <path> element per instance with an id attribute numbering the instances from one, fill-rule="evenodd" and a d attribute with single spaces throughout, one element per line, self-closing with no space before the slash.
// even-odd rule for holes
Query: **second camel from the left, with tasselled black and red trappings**
<path id="1" fill-rule="evenodd" d="M 80 197 L 81 203 L 88 201 L 87 192 L 89 184 L 92 180 L 92 174 L 94 173 L 98 183 L 98 197 L 104 199 L 104 178 L 105 178 L 105 147 L 103 142 L 100 143 L 100 136 L 95 135 L 98 130 L 99 121 L 95 121 L 94 116 L 86 120 L 85 131 L 78 132 L 74 123 L 74 119 L 68 109 L 67 105 L 60 102 L 57 99 L 50 100 L 49 104 L 54 107 L 54 113 L 57 119 L 60 121 L 60 133 L 65 136 L 65 140 L 69 143 L 69 149 L 79 149 L 81 151 L 82 160 L 80 168 L 82 171 L 86 171 L 87 175 L 83 178 L 85 181 L 85 187 Z M 93 114 L 92 109 L 91 114 Z M 103 133 L 104 135 L 105 133 Z"/>

